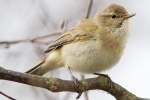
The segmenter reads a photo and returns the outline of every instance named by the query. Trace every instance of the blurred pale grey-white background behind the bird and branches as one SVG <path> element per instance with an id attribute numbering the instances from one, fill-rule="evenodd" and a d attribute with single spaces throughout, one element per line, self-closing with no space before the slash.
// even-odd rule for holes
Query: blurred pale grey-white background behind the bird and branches
<path id="1" fill-rule="evenodd" d="M 89 17 L 110 3 L 124 6 L 129 13 L 131 36 L 120 62 L 108 74 L 112 80 L 139 97 L 150 98 L 150 1 L 93 0 Z M 44 58 L 51 41 L 85 19 L 89 0 L 0 0 L 0 41 L 24 40 L 16 44 L 0 44 L 0 66 L 25 72 Z M 42 37 L 42 36 L 45 36 Z M 34 42 L 28 42 L 29 39 Z M 81 75 L 73 73 L 81 79 Z M 66 68 L 47 77 L 71 80 Z M 85 75 L 85 78 L 96 77 Z M 42 88 L 0 80 L 0 91 L 17 100 L 75 100 L 71 92 L 52 93 Z M 87 92 L 89 100 L 115 100 L 101 90 Z M 0 100 L 8 98 L 0 94 Z M 82 95 L 79 100 L 85 100 Z"/>

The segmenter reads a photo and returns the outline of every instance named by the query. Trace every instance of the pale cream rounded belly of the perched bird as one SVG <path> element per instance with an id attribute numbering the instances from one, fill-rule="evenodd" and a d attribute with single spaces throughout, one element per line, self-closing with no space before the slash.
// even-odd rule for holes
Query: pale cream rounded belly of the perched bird
<path id="1" fill-rule="evenodd" d="M 116 54 L 102 48 L 96 41 L 68 44 L 62 48 L 65 66 L 83 74 L 110 69 L 120 60 L 121 55 L 122 52 Z"/>

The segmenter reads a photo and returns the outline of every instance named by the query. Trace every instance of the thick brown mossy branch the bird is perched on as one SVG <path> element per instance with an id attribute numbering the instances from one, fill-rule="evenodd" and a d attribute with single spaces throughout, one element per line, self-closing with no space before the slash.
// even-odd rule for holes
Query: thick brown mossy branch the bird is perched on
<path id="1" fill-rule="evenodd" d="M 109 91 L 109 83 L 107 79 L 103 76 L 81 80 L 80 82 L 82 83 L 82 85 L 80 85 L 78 88 L 75 88 L 75 85 L 72 81 L 25 74 L 11 70 L 6 70 L 0 67 L 0 79 L 41 87 L 52 92 L 68 91 L 82 93 L 88 90 L 100 89 L 109 92 L 117 100 L 150 100 L 137 97 L 136 95 L 130 93 L 125 88 L 121 87 L 115 82 L 112 87 L 112 90 Z"/>

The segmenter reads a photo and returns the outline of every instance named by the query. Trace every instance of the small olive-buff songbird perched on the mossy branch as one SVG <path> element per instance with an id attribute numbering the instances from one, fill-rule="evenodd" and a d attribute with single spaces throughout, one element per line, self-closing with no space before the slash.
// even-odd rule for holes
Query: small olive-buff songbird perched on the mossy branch
<path id="1" fill-rule="evenodd" d="M 26 73 L 44 75 L 61 67 L 81 74 L 94 74 L 117 64 L 129 36 L 128 14 L 118 4 L 109 4 L 94 18 L 84 19 L 53 41 L 45 53 L 50 54 Z"/>

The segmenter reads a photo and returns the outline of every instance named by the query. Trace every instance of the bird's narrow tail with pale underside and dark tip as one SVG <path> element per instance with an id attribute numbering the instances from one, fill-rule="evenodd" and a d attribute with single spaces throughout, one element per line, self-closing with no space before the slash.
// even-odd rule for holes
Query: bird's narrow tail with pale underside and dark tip
<path id="1" fill-rule="evenodd" d="M 25 73 L 42 76 L 45 73 L 63 67 L 61 55 L 59 52 L 52 52 L 48 57 L 40 61 L 33 68 L 29 69 Z"/>

